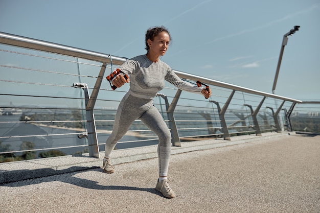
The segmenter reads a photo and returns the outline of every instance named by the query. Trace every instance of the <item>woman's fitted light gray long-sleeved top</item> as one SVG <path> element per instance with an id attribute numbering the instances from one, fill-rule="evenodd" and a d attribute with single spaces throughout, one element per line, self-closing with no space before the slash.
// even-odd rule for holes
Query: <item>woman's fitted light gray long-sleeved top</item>
<path id="1" fill-rule="evenodd" d="M 177 88 L 201 94 L 202 87 L 181 80 L 165 62 L 152 62 L 147 55 L 136 56 L 120 67 L 120 70 L 130 75 L 129 93 L 134 97 L 153 99 L 157 92 L 165 87 L 165 81 Z"/>

